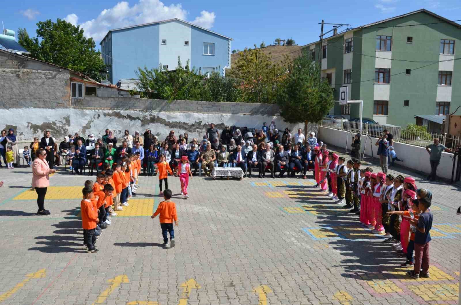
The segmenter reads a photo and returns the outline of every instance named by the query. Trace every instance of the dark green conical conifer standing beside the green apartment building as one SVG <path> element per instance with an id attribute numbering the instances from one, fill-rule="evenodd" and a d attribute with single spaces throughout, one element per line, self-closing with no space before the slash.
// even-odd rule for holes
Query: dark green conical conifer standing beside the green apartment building
<path id="1" fill-rule="evenodd" d="M 333 90 L 306 50 L 289 65 L 277 102 L 285 122 L 304 122 L 305 133 L 307 123 L 319 122 L 333 107 Z"/>

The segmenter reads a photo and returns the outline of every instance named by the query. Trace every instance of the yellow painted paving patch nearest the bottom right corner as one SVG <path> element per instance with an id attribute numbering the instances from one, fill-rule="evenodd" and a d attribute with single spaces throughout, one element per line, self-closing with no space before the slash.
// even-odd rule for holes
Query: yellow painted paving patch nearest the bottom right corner
<path id="1" fill-rule="evenodd" d="M 413 291 L 425 301 L 457 301 L 459 294 L 459 283 L 457 284 L 442 284 L 442 285 L 409 285 L 408 289 Z"/>

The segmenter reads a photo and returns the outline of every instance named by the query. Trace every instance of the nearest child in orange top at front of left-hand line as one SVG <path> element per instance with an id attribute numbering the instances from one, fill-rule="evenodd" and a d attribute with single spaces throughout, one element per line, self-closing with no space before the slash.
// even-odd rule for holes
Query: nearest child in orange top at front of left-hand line
<path id="1" fill-rule="evenodd" d="M 95 253 L 98 252 L 98 249 L 95 247 L 95 229 L 96 223 L 99 222 L 98 211 L 91 202 L 91 199 L 93 199 L 93 190 L 89 187 L 85 187 L 83 188 L 82 193 L 83 199 L 80 202 L 80 208 L 82 209 L 84 244 L 88 247 L 88 253 Z"/>

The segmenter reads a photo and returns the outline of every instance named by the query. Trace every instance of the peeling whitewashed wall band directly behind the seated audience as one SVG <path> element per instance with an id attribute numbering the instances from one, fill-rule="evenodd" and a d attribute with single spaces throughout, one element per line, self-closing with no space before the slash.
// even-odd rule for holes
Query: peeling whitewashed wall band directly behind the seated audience
<path id="1" fill-rule="evenodd" d="M 131 100 L 131 99 L 128 99 Z M 134 99 L 133 99 L 134 100 Z M 188 102 L 189 103 L 189 102 Z M 165 102 L 165 104 L 167 104 Z M 180 108 L 184 101 L 171 103 L 171 109 Z M 190 105 L 198 105 L 200 102 L 190 102 Z M 212 103 L 210 103 L 212 104 Z M 216 103 L 220 104 L 220 103 Z M 232 103 L 229 103 L 232 104 Z M 170 104 L 168 104 L 170 105 Z M 254 105 L 254 109 L 259 106 Z M 168 107 L 166 107 L 168 109 Z M 284 130 L 288 127 L 292 130 L 304 128 L 304 124 L 288 124 L 281 117 L 266 114 L 259 111 L 258 114 L 230 113 L 228 111 L 219 112 L 218 105 L 209 111 L 165 111 L 165 110 L 116 110 L 116 109 L 46 109 L 46 108 L 11 108 L 0 110 L 0 122 L 3 128 L 14 128 L 18 132 L 19 140 L 31 141 L 34 136 L 41 137 L 47 129 L 51 130 L 52 135 L 60 141 L 65 135 L 79 132 L 83 137 L 93 133 L 95 136 L 102 136 L 106 128 L 115 130 L 117 137 L 121 136 L 125 129 L 134 134 L 137 130 L 143 133 L 147 128 L 152 130 L 154 135 L 158 135 L 160 140 L 164 140 L 170 130 L 174 130 L 176 135 L 187 132 L 189 138 L 202 138 L 210 123 L 215 123 L 221 131 L 225 125 L 235 125 L 238 127 L 247 126 L 248 128 L 260 129 L 263 122 L 269 125 L 272 120 L 277 124 L 278 129 Z M 207 112 L 207 113 L 204 113 Z M 253 111 L 257 112 L 257 111 Z M 24 113 L 33 114 L 26 116 Z M 316 126 L 310 124 L 309 132 L 315 131 Z"/>

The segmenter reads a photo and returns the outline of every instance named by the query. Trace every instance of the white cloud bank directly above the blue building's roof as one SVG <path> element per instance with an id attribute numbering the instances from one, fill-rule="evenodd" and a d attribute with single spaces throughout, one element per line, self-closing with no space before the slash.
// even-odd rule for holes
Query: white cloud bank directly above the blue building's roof
<path id="1" fill-rule="evenodd" d="M 64 19 L 75 25 L 78 23 L 86 36 L 93 37 L 98 42 L 109 29 L 172 18 L 187 20 L 187 15 L 188 12 L 181 4 L 165 6 L 160 0 L 139 0 L 133 6 L 126 1 L 118 2 L 115 6 L 102 10 L 98 17 L 82 23 L 78 23 L 78 16 L 73 13 Z M 200 16 L 196 17 L 192 23 L 209 29 L 213 27 L 215 18 L 214 12 L 201 11 Z"/>

